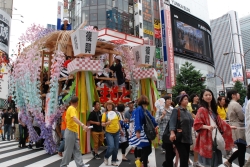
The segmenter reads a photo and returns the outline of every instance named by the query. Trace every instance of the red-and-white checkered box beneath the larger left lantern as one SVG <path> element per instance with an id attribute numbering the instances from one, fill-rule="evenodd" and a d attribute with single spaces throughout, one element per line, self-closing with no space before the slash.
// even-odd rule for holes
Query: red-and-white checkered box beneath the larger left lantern
<path id="1" fill-rule="evenodd" d="M 90 60 L 84 58 L 75 58 L 68 64 L 67 69 L 69 74 L 74 74 L 78 71 L 102 71 L 100 60 Z"/>

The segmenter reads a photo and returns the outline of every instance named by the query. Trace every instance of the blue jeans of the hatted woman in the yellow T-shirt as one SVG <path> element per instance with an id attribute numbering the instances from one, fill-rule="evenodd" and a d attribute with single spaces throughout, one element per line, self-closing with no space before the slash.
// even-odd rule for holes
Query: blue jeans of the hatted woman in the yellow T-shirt
<path id="1" fill-rule="evenodd" d="M 119 131 L 116 133 L 105 133 L 108 148 L 104 157 L 108 159 L 112 155 L 111 162 L 116 162 L 117 160 L 117 154 L 119 149 L 119 134 Z"/>

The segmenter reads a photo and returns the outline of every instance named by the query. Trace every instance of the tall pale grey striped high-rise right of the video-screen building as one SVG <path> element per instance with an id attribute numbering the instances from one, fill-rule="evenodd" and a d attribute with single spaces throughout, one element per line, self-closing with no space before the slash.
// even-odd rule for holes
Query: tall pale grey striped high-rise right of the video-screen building
<path id="1" fill-rule="evenodd" d="M 232 83 L 231 64 L 242 63 L 242 39 L 238 14 L 229 11 L 225 15 L 211 20 L 212 43 L 215 61 L 215 73 L 224 84 Z M 228 54 L 225 54 L 228 53 Z M 222 80 L 216 79 L 217 91 L 222 91 Z"/>

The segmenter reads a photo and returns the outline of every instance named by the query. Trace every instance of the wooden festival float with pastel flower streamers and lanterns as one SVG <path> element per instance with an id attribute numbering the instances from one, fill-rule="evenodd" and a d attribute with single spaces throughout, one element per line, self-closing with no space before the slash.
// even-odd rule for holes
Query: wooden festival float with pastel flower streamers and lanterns
<path id="1" fill-rule="evenodd" d="M 95 31 L 91 26 L 52 31 L 32 25 L 20 40 L 9 92 L 27 117 L 30 140 L 44 139 L 49 154 L 57 152 L 54 136 L 60 130 L 56 124 L 74 95 L 79 97 L 78 117 L 84 124 L 95 100 L 119 104 L 146 95 L 154 115 L 159 96 L 152 66 L 155 47 L 144 45 L 143 39 L 110 29 Z M 22 47 L 25 44 L 29 46 Z M 126 76 L 122 88 L 115 86 L 117 78 L 109 75 L 115 56 L 122 57 Z M 40 135 L 32 127 L 32 117 L 40 125 Z M 79 128 L 79 138 L 82 153 L 90 152 L 90 132 Z"/>

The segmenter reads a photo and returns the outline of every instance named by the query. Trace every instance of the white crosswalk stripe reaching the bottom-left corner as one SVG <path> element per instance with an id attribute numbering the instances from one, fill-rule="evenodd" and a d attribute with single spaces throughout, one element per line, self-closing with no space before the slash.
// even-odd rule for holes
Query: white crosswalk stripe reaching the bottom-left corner
<path id="1" fill-rule="evenodd" d="M 38 152 L 29 154 L 29 155 L 25 155 L 25 156 L 17 157 L 17 158 L 15 158 L 15 159 L 12 159 L 12 160 L 9 160 L 9 161 L 5 161 L 5 162 L 3 162 L 3 163 L 0 163 L 0 166 L 15 165 L 15 164 L 17 164 L 17 163 L 20 163 L 20 162 L 23 162 L 23 161 L 26 161 L 26 160 L 35 158 L 35 157 L 40 156 L 40 155 L 43 155 L 43 154 L 46 154 L 46 152 L 45 152 L 44 150 L 38 151 Z"/>

